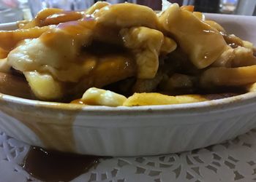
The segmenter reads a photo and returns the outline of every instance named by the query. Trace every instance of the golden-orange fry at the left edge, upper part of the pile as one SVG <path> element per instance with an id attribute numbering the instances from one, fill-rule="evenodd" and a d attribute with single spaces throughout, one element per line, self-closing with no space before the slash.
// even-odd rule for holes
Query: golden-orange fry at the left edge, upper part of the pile
<path id="1" fill-rule="evenodd" d="M 5 51 L 10 51 L 15 48 L 20 41 L 38 38 L 42 33 L 48 30 L 50 30 L 50 26 L 18 29 L 15 31 L 0 31 L 0 47 Z"/>

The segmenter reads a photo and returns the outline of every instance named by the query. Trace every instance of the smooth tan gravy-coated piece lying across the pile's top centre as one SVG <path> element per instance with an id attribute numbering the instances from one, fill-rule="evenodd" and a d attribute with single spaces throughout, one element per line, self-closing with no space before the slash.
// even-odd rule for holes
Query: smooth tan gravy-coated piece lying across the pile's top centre
<path id="1" fill-rule="evenodd" d="M 157 28 L 157 14 L 153 9 L 138 4 L 113 4 L 99 9 L 94 17 L 101 25 L 110 27 L 130 28 L 146 26 Z"/>

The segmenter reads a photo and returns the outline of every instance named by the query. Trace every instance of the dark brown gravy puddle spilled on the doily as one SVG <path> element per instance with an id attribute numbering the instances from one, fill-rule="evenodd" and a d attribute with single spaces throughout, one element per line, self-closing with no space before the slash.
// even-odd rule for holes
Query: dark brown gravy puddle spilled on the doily
<path id="1" fill-rule="evenodd" d="M 23 169 L 41 181 L 71 181 L 99 164 L 99 157 L 46 151 L 31 147 Z"/>

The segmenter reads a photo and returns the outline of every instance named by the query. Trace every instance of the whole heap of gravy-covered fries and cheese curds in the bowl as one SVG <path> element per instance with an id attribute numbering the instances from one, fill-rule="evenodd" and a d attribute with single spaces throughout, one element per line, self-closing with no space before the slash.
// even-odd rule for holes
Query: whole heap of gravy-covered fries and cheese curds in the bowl
<path id="1" fill-rule="evenodd" d="M 238 95 L 256 82 L 253 44 L 192 6 L 156 13 L 99 1 L 81 12 L 44 9 L 0 39 L 0 92 L 21 98 L 165 105 Z"/>

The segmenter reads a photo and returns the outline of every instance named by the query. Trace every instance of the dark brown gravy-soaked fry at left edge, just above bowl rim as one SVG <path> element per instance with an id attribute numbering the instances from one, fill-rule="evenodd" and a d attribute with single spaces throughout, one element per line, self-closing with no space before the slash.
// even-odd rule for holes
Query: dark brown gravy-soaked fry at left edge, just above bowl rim
<path id="1" fill-rule="evenodd" d="M 19 98 L 33 98 L 31 89 L 26 79 L 12 74 L 0 72 L 0 92 L 7 95 L 13 95 Z"/>

